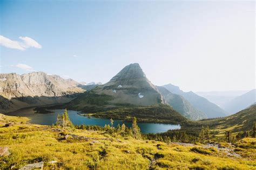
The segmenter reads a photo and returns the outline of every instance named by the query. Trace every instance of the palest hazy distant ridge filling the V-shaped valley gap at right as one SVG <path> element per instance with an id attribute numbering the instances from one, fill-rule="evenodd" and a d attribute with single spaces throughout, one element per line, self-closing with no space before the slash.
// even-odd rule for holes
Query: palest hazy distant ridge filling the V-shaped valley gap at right
<path id="1" fill-rule="evenodd" d="M 229 103 L 235 97 L 238 97 L 248 91 L 211 91 L 211 92 L 196 92 L 201 97 L 206 98 L 212 103 L 224 109 L 225 104 Z M 225 109 L 224 109 L 225 110 Z"/>

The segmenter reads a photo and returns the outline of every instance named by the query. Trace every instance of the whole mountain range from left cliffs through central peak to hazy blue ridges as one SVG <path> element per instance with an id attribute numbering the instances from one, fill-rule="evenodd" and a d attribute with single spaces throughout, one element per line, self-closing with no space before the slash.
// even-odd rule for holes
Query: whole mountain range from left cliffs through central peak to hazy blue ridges
<path id="1" fill-rule="evenodd" d="M 251 93 L 246 97 L 253 100 Z M 241 96 L 240 100 L 244 99 Z M 233 101 L 234 105 L 238 105 L 235 102 L 239 103 L 239 98 L 236 100 Z M 62 107 L 85 113 L 116 114 L 117 109 L 125 108 L 122 112 L 128 114 L 128 110 L 134 111 L 137 107 L 156 106 L 154 109 L 157 109 L 159 105 L 170 105 L 173 110 L 191 120 L 224 117 L 227 114 L 219 106 L 192 91 L 184 92 L 172 84 L 155 86 L 147 79 L 138 63 L 125 66 L 105 84 L 78 83 L 44 72 L 0 74 L 0 101 L 0 112 L 3 113 L 23 107 L 65 103 Z M 237 110 L 247 106 L 245 103 Z M 231 105 L 229 107 L 234 108 Z M 173 112 L 171 108 L 167 110 Z"/>

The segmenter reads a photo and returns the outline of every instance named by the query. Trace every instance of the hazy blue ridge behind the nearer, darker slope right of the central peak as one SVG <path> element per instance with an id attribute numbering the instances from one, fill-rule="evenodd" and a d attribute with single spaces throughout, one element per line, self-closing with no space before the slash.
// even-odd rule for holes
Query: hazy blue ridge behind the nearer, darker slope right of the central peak
<path id="1" fill-rule="evenodd" d="M 211 103 L 207 99 L 198 96 L 192 91 L 184 92 L 180 90 L 178 86 L 174 86 L 172 84 L 164 85 L 164 87 L 174 94 L 179 94 L 180 96 L 183 96 L 192 104 L 192 106 L 197 108 L 199 111 L 204 112 L 208 118 L 224 117 L 226 115 L 226 112 L 222 108 Z"/>

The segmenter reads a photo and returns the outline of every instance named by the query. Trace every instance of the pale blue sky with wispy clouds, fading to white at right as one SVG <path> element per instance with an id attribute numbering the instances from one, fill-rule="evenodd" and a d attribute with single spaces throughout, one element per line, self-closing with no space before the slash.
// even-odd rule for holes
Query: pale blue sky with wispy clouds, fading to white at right
<path id="1" fill-rule="evenodd" d="M 106 83 L 139 63 L 184 91 L 255 89 L 255 2 L 0 1 L 0 73 Z"/>

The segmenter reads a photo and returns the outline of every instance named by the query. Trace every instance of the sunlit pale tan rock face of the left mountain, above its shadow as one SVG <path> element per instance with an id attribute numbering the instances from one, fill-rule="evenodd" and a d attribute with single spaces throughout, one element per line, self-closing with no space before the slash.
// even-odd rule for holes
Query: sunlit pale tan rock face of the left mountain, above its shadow
<path id="1" fill-rule="evenodd" d="M 77 87 L 76 81 L 44 72 L 0 74 L 0 79 L 0 95 L 7 99 L 28 96 L 58 97 L 82 91 Z"/>

